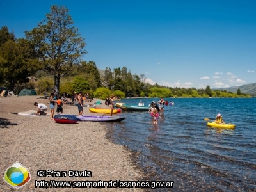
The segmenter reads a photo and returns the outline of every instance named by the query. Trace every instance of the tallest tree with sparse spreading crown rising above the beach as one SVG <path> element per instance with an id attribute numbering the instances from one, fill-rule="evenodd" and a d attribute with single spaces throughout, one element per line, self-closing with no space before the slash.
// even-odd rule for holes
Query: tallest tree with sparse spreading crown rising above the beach
<path id="1" fill-rule="evenodd" d="M 31 31 L 25 31 L 38 57 L 42 70 L 54 76 L 54 90 L 60 89 L 60 77 L 74 72 L 84 50 L 84 38 L 77 33 L 74 21 L 65 6 L 51 6 L 46 19 Z"/>

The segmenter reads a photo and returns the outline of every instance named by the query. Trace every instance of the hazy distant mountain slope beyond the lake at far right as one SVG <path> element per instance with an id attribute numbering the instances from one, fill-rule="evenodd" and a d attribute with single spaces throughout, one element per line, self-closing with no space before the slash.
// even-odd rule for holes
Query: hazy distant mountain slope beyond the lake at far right
<path id="1" fill-rule="evenodd" d="M 212 88 L 212 90 L 226 90 L 227 92 L 236 93 L 239 88 L 241 93 L 256 95 L 256 83 L 244 84 L 241 86 L 231 86 L 228 88 Z"/>

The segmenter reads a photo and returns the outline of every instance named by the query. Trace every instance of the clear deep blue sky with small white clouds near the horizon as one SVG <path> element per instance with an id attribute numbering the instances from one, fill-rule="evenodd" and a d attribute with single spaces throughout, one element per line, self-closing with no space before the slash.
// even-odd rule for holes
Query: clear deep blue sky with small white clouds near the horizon
<path id="1" fill-rule="evenodd" d="M 256 82 L 256 1 L 0 1 L 17 38 L 52 5 L 66 6 L 85 39 L 84 61 L 126 67 L 150 84 L 228 88 Z"/>

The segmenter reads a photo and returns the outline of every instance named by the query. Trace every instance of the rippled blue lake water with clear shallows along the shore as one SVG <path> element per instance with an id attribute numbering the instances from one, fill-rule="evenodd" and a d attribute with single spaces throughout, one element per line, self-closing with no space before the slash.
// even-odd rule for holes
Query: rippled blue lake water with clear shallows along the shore
<path id="1" fill-rule="evenodd" d="M 147 106 L 159 98 L 118 102 L 140 100 Z M 172 191 L 256 191 L 256 98 L 166 100 L 175 104 L 164 106 L 158 125 L 147 112 L 123 111 L 123 122 L 107 124 L 108 138 L 138 154 L 147 179 L 172 180 Z M 204 118 L 218 113 L 236 128 L 207 127 Z"/>

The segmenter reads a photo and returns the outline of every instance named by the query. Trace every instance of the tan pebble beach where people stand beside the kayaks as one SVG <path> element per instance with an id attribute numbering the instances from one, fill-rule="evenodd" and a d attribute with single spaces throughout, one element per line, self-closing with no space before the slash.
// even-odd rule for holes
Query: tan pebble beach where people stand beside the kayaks
<path id="1" fill-rule="evenodd" d="M 22 116 L 36 111 L 34 102 L 49 107 L 49 100 L 38 96 L 4 97 L 0 99 L 0 172 L 16 161 L 28 168 L 31 181 L 19 191 L 142 191 L 140 188 L 35 188 L 35 180 L 139 180 L 142 173 L 131 161 L 131 153 L 121 145 L 106 140 L 107 124 L 78 122 L 56 124 L 50 116 Z M 97 100 L 88 102 L 93 104 Z M 102 101 L 102 107 L 104 101 Z M 46 111 L 51 113 L 50 109 Z M 78 115 L 77 106 L 64 105 L 64 114 Z M 83 115 L 88 115 L 84 108 Z M 37 177 L 37 170 L 88 170 L 92 177 Z M 3 177 L 2 177 L 3 178 Z M 0 191 L 15 191 L 0 179 Z"/>

